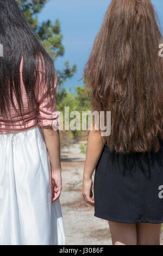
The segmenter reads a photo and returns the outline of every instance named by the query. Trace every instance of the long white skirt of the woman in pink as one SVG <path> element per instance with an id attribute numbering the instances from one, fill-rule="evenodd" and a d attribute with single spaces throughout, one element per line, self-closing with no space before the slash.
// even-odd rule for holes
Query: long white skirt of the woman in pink
<path id="1" fill-rule="evenodd" d="M 0 135 L 0 245 L 66 245 L 41 128 Z"/>

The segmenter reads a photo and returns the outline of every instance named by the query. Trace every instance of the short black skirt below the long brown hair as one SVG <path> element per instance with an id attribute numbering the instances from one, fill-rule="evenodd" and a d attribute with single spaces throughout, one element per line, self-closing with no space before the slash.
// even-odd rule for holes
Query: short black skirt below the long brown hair
<path id="1" fill-rule="evenodd" d="M 163 142 L 157 153 L 104 147 L 94 180 L 95 216 L 119 223 L 163 223 Z"/>

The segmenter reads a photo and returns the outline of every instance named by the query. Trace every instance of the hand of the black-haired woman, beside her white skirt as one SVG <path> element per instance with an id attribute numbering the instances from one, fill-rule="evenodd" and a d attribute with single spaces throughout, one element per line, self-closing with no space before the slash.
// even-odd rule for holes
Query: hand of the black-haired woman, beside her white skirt
<path id="1" fill-rule="evenodd" d="M 60 172 L 52 172 L 52 203 L 56 201 L 61 194 L 62 190 L 62 178 Z"/>

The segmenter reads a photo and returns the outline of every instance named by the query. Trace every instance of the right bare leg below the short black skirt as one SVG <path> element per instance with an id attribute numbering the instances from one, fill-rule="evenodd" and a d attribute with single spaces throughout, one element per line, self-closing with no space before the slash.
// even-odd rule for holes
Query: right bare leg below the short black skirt
<path id="1" fill-rule="evenodd" d="M 160 245 L 161 224 L 137 223 L 137 245 Z"/>

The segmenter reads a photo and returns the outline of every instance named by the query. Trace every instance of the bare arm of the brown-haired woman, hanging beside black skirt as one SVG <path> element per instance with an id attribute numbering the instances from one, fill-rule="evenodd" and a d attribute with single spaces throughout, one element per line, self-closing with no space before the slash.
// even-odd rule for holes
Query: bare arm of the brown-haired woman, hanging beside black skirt
<path id="1" fill-rule="evenodd" d="M 95 202 L 91 199 L 92 194 L 92 174 L 96 168 L 99 157 L 101 156 L 104 143 L 102 142 L 101 135 L 98 131 L 93 130 L 89 133 L 86 150 L 86 161 L 83 173 L 83 190 L 82 194 L 87 204 L 91 206 L 95 205 Z"/>

